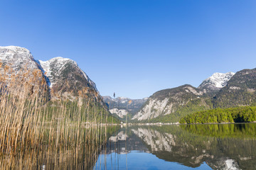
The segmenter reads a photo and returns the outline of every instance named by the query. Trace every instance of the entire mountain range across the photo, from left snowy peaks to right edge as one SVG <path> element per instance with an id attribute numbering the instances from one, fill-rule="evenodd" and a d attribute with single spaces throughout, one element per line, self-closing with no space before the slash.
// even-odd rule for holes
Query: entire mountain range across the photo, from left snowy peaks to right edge
<path id="1" fill-rule="evenodd" d="M 186 84 L 157 91 L 149 98 L 105 96 L 102 99 L 95 83 L 73 60 L 55 57 L 43 62 L 35 60 L 26 48 L 16 46 L 0 47 L 0 60 L 0 81 L 5 81 L 6 86 L 11 82 L 13 74 L 19 73 L 21 77 L 23 74 L 27 77 L 39 75 L 39 81 L 45 79 L 48 82 L 48 86 L 43 88 L 49 91 L 51 100 L 68 98 L 73 101 L 80 94 L 85 98 L 104 100 L 112 115 L 120 120 L 178 122 L 185 115 L 210 108 L 256 105 L 256 69 L 243 69 L 235 74 L 215 73 L 198 88 Z M 12 87 L 12 91 L 18 89 Z M 33 93 L 33 87 L 31 91 Z"/>

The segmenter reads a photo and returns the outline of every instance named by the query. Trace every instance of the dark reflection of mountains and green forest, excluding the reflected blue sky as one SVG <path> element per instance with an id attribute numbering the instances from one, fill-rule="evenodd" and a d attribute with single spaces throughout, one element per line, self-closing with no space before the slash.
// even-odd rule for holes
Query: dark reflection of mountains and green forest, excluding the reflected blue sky
<path id="1" fill-rule="evenodd" d="M 132 127 L 127 128 L 127 135 L 121 130 L 110 137 L 108 153 L 122 154 L 126 148 L 125 153 L 150 152 L 159 159 L 190 167 L 206 162 L 212 169 L 255 169 L 255 128 L 256 124 Z"/>

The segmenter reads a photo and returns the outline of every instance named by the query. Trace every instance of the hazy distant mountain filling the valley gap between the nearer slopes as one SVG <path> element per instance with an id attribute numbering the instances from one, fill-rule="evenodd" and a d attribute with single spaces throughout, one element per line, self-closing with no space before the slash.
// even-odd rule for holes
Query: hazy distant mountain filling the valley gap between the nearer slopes
<path id="1" fill-rule="evenodd" d="M 108 104 L 110 113 L 114 114 L 120 120 L 131 119 L 135 113 L 139 111 L 148 98 L 131 99 L 126 97 L 112 98 L 110 96 L 103 96 L 103 101 Z"/>

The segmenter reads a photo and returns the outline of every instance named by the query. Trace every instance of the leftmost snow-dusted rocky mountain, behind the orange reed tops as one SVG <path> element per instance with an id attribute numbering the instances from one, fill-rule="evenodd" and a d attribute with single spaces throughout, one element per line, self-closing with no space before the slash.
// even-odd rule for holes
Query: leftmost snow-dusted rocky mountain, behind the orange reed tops
<path id="1" fill-rule="evenodd" d="M 23 47 L 0 47 L 0 82 L 4 84 L 5 91 L 14 95 L 26 89 L 29 94 L 43 93 L 43 96 L 49 96 L 43 73 L 31 52 Z"/>

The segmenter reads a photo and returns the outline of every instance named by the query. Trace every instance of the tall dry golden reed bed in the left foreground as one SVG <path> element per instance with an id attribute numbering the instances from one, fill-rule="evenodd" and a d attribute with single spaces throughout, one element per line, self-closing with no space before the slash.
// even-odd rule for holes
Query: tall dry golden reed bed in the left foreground
<path id="1" fill-rule="evenodd" d="M 0 168 L 92 169 L 107 142 L 102 124 L 113 120 L 97 91 L 70 100 L 73 91 L 53 94 L 39 69 L 0 69 Z"/>

